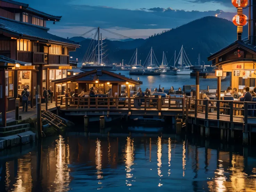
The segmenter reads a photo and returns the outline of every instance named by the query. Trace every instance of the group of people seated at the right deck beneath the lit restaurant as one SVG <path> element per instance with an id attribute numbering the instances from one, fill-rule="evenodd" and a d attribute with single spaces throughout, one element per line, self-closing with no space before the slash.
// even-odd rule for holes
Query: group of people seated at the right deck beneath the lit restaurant
<path id="1" fill-rule="evenodd" d="M 253 97 L 256 96 L 256 87 L 254 87 L 253 89 L 246 86 L 243 89 L 243 94 L 242 96 L 240 96 L 240 94 L 237 91 L 237 88 L 233 88 L 232 87 L 228 87 L 227 91 L 224 95 L 224 100 L 234 100 L 234 99 L 239 99 L 239 101 L 246 101 L 246 102 L 251 102 L 253 101 Z"/>

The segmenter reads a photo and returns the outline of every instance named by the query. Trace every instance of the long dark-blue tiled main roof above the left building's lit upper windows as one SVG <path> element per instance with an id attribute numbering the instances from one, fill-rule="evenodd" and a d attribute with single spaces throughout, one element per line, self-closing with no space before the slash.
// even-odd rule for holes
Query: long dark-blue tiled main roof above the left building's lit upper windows
<path id="1" fill-rule="evenodd" d="M 79 47 L 79 43 L 77 42 L 48 33 L 47 31 L 49 29 L 45 27 L 19 22 L 4 17 L 0 17 L 0 30 L 26 39 L 41 39 L 42 41 L 59 42 L 62 44 L 68 44 L 72 47 Z"/>

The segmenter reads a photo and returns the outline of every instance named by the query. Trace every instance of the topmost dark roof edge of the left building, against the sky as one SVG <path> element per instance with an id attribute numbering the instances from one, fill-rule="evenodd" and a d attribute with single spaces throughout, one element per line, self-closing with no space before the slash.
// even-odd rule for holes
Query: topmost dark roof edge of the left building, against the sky
<path id="1" fill-rule="evenodd" d="M 7 2 L 7 3 L 11 3 L 11 4 L 14 4 L 14 5 L 18 5 L 18 6 L 22 6 L 21 7 L 22 9 L 25 9 L 25 10 L 30 11 L 32 13 L 36 13 L 38 15 L 47 17 L 51 21 L 59 21 L 61 19 L 61 17 L 62 17 L 62 16 L 50 15 L 50 14 L 44 13 L 42 11 L 39 11 L 37 9 L 33 9 L 33 8 L 29 7 L 29 4 L 26 4 L 26 3 L 22 3 L 22 2 L 18 2 L 18 1 L 13 1 L 13 0 L 1 0 L 1 1 Z"/>

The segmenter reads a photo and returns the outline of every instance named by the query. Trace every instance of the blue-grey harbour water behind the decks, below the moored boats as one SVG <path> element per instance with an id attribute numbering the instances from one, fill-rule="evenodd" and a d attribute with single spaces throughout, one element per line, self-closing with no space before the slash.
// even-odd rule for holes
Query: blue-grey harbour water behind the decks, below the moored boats
<path id="1" fill-rule="evenodd" d="M 80 69 L 75 69 L 75 71 L 80 71 Z M 81 72 L 81 71 L 80 71 Z M 145 90 L 146 88 L 151 88 L 151 90 L 154 90 L 154 88 L 159 88 L 159 85 L 161 85 L 161 88 L 164 87 L 165 89 L 170 89 L 171 86 L 174 87 L 174 89 L 178 89 L 179 87 L 183 88 L 183 85 L 195 85 L 195 78 L 191 78 L 190 75 L 158 75 L 158 76 L 145 76 L 145 75 L 129 75 L 129 71 L 111 71 L 114 73 L 121 73 L 122 75 L 125 75 L 126 77 L 133 78 L 135 80 L 138 79 L 140 81 L 143 81 L 143 85 L 141 85 L 141 88 Z M 207 86 L 209 86 L 210 89 L 217 89 L 217 79 L 200 79 L 200 89 L 207 89 Z M 230 86 L 230 79 L 227 78 L 225 80 L 222 80 L 221 87 L 223 90 L 226 90 L 228 86 Z"/>

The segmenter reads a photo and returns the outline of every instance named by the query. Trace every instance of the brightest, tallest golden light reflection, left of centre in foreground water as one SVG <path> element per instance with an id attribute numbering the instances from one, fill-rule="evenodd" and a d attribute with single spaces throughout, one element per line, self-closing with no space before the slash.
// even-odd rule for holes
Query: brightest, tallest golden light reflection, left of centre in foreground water
<path id="1" fill-rule="evenodd" d="M 64 138 L 59 135 L 59 139 L 56 140 L 55 146 L 55 158 L 56 158 L 56 176 L 54 183 L 56 184 L 53 191 L 65 192 L 70 190 L 70 169 L 68 167 L 69 162 L 69 144 L 65 144 Z"/>

